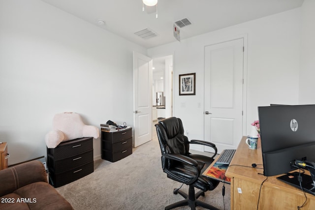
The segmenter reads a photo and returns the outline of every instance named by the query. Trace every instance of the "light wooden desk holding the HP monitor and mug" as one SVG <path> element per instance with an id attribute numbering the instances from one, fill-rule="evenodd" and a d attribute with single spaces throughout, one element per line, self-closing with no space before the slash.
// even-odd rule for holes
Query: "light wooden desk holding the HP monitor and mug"
<path id="1" fill-rule="evenodd" d="M 231 178 L 231 210 L 256 210 L 261 183 L 267 178 L 262 165 L 252 168 L 252 163 L 262 164 L 261 144 L 251 150 L 244 136 L 234 154 L 225 176 Z M 236 166 L 241 165 L 241 166 Z M 249 167 L 243 167 L 249 166 Z M 309 174 L 306 171 L 306 174 Z M 268 177 L 263 183 L 259 198 L 259 210 L 297 210 L 305 202 L 303 191 L 277 180 L 281 175 Z M 241 190 L 241 192 L 239 192 Z M 306 193 L 307 202 L 301 210 L 315 209 L 315 196 Z"/>

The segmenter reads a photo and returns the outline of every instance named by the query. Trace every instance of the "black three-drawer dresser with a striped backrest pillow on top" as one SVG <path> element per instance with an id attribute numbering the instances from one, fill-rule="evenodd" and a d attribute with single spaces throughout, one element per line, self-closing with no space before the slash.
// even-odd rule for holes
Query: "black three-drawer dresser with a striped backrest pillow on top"
<path id="1" fill-rule="evenodd" d="M 74 139 L 47 148 L 49 183 L 54 187 L 78 180 L 94 172 L 93 137 Z"/>

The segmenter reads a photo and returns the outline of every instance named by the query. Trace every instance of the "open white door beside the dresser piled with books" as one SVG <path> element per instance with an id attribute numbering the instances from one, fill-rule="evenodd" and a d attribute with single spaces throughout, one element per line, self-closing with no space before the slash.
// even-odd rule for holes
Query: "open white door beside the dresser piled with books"
<path id="1" fill-rule="evenodd" d="M 133 52 L 133 146 L 152 140 L 152 59 Z"/>

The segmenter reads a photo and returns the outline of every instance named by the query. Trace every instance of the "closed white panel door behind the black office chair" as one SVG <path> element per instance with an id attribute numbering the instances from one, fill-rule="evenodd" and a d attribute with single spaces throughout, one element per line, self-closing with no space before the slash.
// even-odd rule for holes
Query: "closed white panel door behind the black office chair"
<path id="1" fill-rule="evenodd" d="M 243 46 L 241 38 L 205 47 L 204 132 L 218 153 L 243 135 Z"/>

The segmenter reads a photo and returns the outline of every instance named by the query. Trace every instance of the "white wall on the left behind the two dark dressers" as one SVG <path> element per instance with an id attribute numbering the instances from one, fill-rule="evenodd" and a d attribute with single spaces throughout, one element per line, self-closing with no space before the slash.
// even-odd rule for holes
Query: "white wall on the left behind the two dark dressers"
<path id="1" fill-rule="evenodd" d="M 147 52 L 41 0 L 0 0 L 0 142 L 9 164 L 46 155 L 56 113 L 132 126 L 132 51 Z"/>

